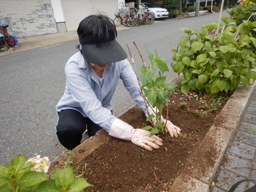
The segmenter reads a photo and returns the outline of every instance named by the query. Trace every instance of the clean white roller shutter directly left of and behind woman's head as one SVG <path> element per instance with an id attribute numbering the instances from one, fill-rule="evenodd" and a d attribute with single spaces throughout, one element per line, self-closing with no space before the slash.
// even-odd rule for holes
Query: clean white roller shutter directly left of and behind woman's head
<path id="1" fill-rule="evenodd" d="M 78 28 L 81 20 L 88 15 L 93 15 L 92 0 L 61 0 L 67 31 Z"/>

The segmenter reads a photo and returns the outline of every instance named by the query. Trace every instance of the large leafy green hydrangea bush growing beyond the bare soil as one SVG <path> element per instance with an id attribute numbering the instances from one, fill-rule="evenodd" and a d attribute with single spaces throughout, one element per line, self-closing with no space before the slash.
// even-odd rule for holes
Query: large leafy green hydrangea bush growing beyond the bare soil
<path id="1" fill-rule="evenodd" d="M 201 31 L 183 28 L 187 34 L 180 39 L 177 49 L 172 49 L 172 69 L 183 73 L 181 91 L 188 93 L 190 89 L 210 93 L 212 97 L 225 91 L 230 93 L 241 82 L 250 84 L 256 79 L 255 55 L 250 44 L 256 45 L 256 39 L 250 35 L 256 29 L 256 22 L 244 21 L 238 29 L 235 22 L 226 23 L 215 36 L 217 23 L 205 25 Z M 215 31 L 214 31 L 215 30 Z M 236 32 L 239 31 L 239 35 Z"/>

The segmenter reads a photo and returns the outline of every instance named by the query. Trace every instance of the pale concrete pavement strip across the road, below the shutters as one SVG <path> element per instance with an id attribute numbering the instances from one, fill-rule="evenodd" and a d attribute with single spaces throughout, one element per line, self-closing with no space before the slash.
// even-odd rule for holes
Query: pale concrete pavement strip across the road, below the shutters
<path id="1" fill-rule="evenodd" d="M 126 26 L 117 26 L 117 31 L 129 29 Z M 20 51 L 25 51 L 28 49 L 34 49 L 37 47 L 43 47 L 46 45 L 59 44 L 64 41 L 71 41 L 74 39 L 78 39 L 78 35 L 76 31 L 62 32 L 62 33 L 53 33 L 48 35 L 39 35 L 27 38 L 18 38 L 18 45 L 15 46 L 15 50 L 11 52 L 0 52 L 0 56 L 6 55 L 9 53 L 15 53 Z"/>

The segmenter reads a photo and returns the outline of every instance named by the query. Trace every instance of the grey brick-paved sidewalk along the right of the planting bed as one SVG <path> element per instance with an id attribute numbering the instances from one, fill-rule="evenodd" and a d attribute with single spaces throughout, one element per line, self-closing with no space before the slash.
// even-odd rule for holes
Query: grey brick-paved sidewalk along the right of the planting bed
<path id="1" fill-rule="evenodd" d="M 256 90 L 216 178 L 212 192 L 227 192 L 239 180 L 256 180 Z M 251 186 L 244 182 L 235 191 L 244 192 Z"/>

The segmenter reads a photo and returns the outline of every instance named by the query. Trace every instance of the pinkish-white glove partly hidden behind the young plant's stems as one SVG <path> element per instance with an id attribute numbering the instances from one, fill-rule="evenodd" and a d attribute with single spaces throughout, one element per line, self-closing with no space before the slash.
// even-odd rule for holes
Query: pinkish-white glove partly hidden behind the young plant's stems
<path id="1" fill-rule="evenodd" d="M 154 108 L 154 111 L 156 111 L 156 108 Z M 155 114 L 154 111 L 150 107 L 148 108 L 149 115 Z M 149 115 L 147 112 L 145 113 L 146 117 L 148 117 Z M 153 125 L 155 126 L 157 123 L 157 119 L 154 117 L 151 120 L 153 122 Z M 166 119 L 164 119 L 162 115 L 161 115 L 161 122 L 162 124 L 166 123 Z M 178 137 L 178 135 L 180 134 L 180 128 L 177 127 L 176 125 L 173 125 L 172 122 L 170 122 L 169 120 L 167 120 L 165 131 L 166 133 L 169 133 L 172 137 Z"/>

